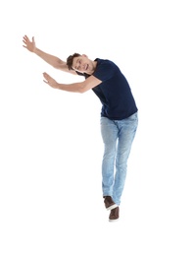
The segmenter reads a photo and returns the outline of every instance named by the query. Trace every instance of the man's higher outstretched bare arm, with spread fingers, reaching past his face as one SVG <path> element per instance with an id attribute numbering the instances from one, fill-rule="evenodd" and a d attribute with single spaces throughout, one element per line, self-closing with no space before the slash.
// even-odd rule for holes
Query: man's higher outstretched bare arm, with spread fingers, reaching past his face
<path id="1" fill-rule="evenodd" d="M 52 67 L 71 73 L 73 75 L 77 75 L 74 70 L 69 70 L 67 66 L 67 62 L 61 60 L 60 58 L 51 55 L 49 53 L 46 53 L 39 48 L 36 47 L 34 36 L 32 37 L 32 40 L 29 40 L 27 35 L 24 35 L 23 37 L 24 42 L 24 48 L 26 48 L 28 51 L 35 53 L 37 56 L 39 56 L 41 59 L 43 59 L 45 62 L 47 62 Z"/>

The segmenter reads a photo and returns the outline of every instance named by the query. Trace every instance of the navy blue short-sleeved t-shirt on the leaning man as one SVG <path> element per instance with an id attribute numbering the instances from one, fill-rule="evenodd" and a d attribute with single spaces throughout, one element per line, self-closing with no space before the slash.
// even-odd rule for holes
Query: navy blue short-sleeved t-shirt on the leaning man
<path id="1" fill-rule="evenodd" d="M 132 96 L 129 84 L 120 68 L 110 60 L 95 59 L 97 66 L 92 74 L 102 81 L 92 91 L 102 102 L 101 116 L 112 120 L 122 120 L 137 112 L 137 106 Z M 89 77 L 83 75 L 85 79 Z"/>

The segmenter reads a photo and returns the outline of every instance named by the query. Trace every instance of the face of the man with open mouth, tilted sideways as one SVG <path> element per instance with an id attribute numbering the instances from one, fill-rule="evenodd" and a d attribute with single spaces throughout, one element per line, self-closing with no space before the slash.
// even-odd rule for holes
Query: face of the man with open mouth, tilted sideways
<path id="1" fill-rule="evenodd" d="M 73 58 L 73 70 L 91 75 L 94 71 L 92 61 L 85 54 Z"/>

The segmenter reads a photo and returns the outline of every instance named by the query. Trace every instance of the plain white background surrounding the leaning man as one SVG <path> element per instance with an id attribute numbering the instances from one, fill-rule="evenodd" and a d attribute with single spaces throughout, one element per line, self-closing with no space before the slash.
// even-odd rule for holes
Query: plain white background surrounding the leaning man
<path id="1" fill-rule="evenodd" d="M 1 2 L 0 255 L 194 256 L 193 1 Z M 116 62 L 139 108 L 121 220 L 101 191 L 99 99 L 23 47 Z M 77 79 L 77 78 L 76 78 Z"/>

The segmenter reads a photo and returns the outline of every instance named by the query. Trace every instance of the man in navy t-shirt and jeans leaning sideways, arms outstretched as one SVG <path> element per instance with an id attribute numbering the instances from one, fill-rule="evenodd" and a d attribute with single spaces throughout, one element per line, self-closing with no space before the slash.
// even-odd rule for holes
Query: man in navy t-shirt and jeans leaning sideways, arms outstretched
<path id="1" fill-rule="evenodd" d="M 80 83 L 60 84 L 47 73 L 44 82 L 54 89 L 73 93 L 92 90 L 102 103 L 101 134 L 104 142 L 102 160 L 102 192 L 104 204 L 110 210 L 109 221 L 120 217 L 127 160 L 138 125 L 137 106 L 127 80 L 119 67 L 107 59 L 90 60 L 85 54 L 74 53 L 63 61 L 36 47 L 24 35 L 24 47 L 56 69 L 84 76 Z"/>

